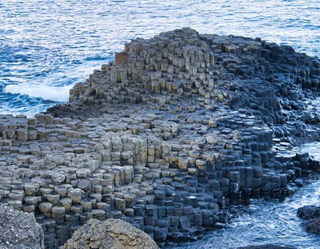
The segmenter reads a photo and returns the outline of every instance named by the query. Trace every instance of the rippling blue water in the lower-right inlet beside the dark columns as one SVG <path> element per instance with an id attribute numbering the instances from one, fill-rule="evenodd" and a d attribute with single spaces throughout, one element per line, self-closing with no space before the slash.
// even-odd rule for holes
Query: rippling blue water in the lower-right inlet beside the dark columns
<path id="1" fill-rule="evenodd" d="M 297 147 L 320 160 L 320 142 Z M 315 176 L 294 196 L 284 200 L 252 199 L 250 205 L 235 207 L 235 216 L 227 228 L 208 233 L 203 240 L 183 243 L 175 249 L 235 249 L 247 245 L 273 244 L 298 249 L 319 249 L 320 236 L 306 233 L 297 209 L 306 205 L 320 206 L 320 179 Z"/>

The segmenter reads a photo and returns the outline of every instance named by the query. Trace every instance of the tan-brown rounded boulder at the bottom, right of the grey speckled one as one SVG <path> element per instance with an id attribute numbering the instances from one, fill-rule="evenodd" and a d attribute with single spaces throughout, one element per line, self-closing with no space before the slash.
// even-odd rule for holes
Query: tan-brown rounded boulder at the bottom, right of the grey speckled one
<path id="1" fill-rule="evenodd" d="M 157 249 L 158 246 L 149 235 L 125 221 L 91 219 L 61 247 L 78 248 Z"/>

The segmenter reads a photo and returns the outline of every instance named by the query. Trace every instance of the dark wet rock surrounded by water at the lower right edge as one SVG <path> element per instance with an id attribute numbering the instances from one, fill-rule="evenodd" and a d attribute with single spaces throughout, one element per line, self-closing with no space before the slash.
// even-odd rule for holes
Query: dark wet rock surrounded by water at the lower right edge
<path id="1" fill-rule="evenodd" d="M 320 235 L 320 206 L 303 206 L 297 211 L 297 215 L 303 218 L 302 226 L 308 233 Z"/>

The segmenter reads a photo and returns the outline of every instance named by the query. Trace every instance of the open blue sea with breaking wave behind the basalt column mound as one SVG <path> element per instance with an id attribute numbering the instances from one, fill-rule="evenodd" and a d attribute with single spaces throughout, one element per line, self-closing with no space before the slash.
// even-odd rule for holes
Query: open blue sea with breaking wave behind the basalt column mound
<path id="1" fill-rule="evenodd" d="M 48 107 L 43 100 L 67 101 L 71 85 L 113 60 L 124 43 L 185 26 L 258 36 L 319 56 L 319 0 L 21 0 L 0 6 L 0 114 L 5 105 L 36 113 Z M 22 104 L 29 107 L 21 110 Z"/>

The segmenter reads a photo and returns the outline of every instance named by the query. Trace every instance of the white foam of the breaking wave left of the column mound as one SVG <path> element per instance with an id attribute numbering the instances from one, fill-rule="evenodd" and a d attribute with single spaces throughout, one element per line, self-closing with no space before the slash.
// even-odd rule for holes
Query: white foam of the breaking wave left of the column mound
<path id="1" fill-rule="evenodd" d="M 4 92 L 28 95 L 29 97 L 41 97 L 43 98 L 43 100 L 66 102 L 69 98 L 69 90 L 72 87 L 73 85 L 56 87 L 53 85 L 36 85 L 23 83 L 18 85 L 7 85 L 4 89 Z"/>

